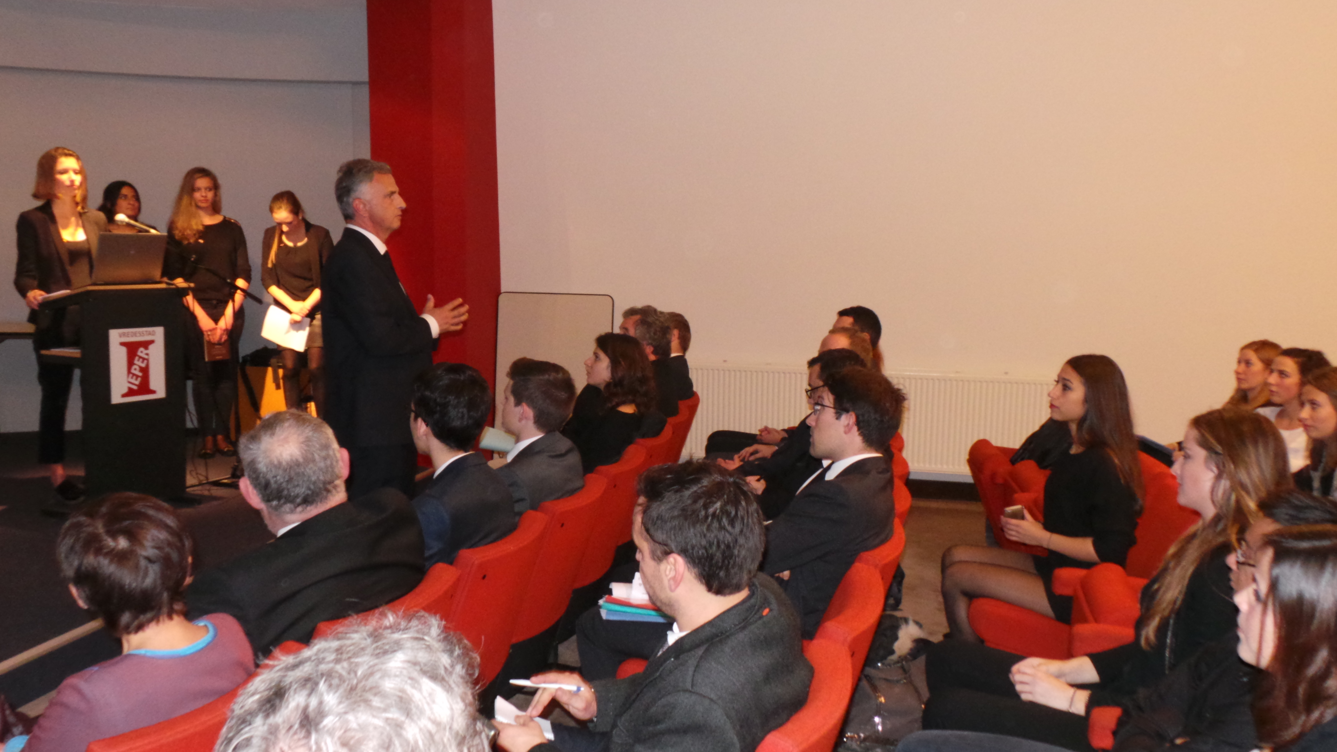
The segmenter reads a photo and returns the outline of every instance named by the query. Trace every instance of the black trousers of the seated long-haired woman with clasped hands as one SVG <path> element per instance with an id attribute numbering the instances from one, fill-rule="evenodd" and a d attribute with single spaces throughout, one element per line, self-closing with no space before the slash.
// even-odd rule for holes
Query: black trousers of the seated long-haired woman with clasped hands
<path id="1" fill-rule="evenodd" d="M 1011 670 L 1025 656 L 947 640 L 928 652 L 924 728 L 1001 733 L 1088 752 L 1087 717 L 1021 700 Z"/>

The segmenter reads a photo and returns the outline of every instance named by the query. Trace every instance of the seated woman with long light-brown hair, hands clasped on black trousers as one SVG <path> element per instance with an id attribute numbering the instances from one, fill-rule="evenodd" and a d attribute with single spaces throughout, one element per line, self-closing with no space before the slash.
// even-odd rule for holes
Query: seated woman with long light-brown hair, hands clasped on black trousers
<path id="1" fill-rule="evenodd" d="M 1174 472 L 1179 504 L 1202 521 L 1174 543 L 1142 589 L 1134 642 L 1055 661 L 944 641 L 928 657 L 924 728 L 1004 733 L 1086 749 L 1091 708 L 1131 708 L 1139 689 L 1229 634 L 1235 606 L 1226 557 L 1258 516 L 1259 502 L 1290 486 L 1286 446 L 1270 423 L 1241 409 L 1214 409 L 1189 423 Z M 1273 503 L 1285 504 L 1286 496 Z M 1270 510 L 1289 519 L 1289 507 Z M 1265 530 L 1261 525 L 1259 531 Z"/>

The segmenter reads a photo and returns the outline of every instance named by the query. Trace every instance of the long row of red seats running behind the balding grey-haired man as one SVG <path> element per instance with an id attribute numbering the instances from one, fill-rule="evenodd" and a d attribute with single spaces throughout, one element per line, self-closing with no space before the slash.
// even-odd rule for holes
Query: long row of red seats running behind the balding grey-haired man
<path id="1" fill-rule="evenodd" d="M 384 607 L 441 617 L 479 652 L 479 686 L 485 686 L 505 662 L 511 644 L 554 625 L 567 607 L 572 586 L 602 577 L 612 563 L 614 550 L 631 539 L 636 478 L 654 464 L 678 459 L 701 396 L 693 395 L 679 405 L 659 436 L 638 440 L 616 464 L 595 468 L 580 492 L 524 512 L 515 533 L 460 551 L 455 563 L 433 566 L 413 591 Z M 539 561 L 543 566 L 536 566 Z M 354 618 L 322 622 L 314 637 Z M 285 642 L 275 653 L 302 648 Z M 88 749 L 210 752 L 241 689 L 175 719 L 98 740 Z"/>

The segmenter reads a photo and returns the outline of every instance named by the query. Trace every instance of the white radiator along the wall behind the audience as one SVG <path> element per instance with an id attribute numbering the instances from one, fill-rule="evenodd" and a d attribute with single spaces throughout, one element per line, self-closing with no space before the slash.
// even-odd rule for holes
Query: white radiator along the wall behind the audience
<path id="1" fill-rule="evenodd" d="M 916 478 L 961 480 L 976 439 L 1015 447 L 1048 417 L 1051 381 L 957 373 L 888 373 L 905 391 L 905 460 Z M 701 409 L 685 454 L 701 456 L 711 431 L 783 428 L 808 413 L 808 372 L 733 363 L 691 367 Z"/>

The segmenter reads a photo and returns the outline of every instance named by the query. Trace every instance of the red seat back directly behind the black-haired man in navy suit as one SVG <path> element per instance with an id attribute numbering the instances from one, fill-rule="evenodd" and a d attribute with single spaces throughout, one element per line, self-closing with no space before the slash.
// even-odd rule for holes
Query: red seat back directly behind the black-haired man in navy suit
<path id="1" fill-rule="evenodd" d="M 479 652 L 479 686 L 505 662 L 547 526 L 548 515 L 527 511 L 515 533 L 455 557 L 460 585 L 445 622 Z"/>

